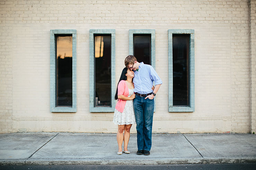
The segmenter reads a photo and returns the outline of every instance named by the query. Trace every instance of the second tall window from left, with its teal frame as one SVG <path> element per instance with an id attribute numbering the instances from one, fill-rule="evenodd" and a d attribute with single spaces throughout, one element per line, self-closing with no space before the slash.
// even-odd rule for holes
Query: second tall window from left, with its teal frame
<path id="1" fill-rule="evenodd" d="M 90 112 L 115 111 L 115 30 L 90 30 Z"/>

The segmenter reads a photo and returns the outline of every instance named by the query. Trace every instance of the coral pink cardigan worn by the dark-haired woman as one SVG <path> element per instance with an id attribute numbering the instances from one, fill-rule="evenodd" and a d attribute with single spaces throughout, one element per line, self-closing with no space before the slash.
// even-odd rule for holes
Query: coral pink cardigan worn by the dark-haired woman
<path id="1" fill-rule="evenodd" d="M 118 89 L 117 95 L 124 95 L 126 97 L 129 96 L 129 90 L 125 80 L 121 80 L 119 82 L 117 89 Z M 126 100 L 119 99 L 116 105 L 116 109 L 122 113 L 125 109 L 125 104 L 126 104 Z"/>

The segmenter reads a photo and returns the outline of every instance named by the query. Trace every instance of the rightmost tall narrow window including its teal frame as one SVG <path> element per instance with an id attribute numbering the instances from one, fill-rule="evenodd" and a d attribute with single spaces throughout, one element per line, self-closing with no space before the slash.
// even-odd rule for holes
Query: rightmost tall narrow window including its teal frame
<path id="1" fill-rule="evenodd" d="M 169 112 L 194 111 L 194 30 L 170 29 Z"/>

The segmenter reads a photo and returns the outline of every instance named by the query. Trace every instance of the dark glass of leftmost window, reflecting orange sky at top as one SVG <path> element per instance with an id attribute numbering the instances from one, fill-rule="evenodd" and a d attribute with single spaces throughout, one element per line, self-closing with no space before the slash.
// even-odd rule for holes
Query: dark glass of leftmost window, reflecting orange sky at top
<path id="1" fill-rule="evenodd" d="M 56 106 L 72 107 L 72 35 L 56 35 Z"/>

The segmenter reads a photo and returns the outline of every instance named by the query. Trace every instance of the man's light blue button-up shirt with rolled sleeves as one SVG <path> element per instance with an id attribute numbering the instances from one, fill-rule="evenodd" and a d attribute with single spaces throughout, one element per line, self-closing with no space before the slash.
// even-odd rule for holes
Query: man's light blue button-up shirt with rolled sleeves
<path id="1" fill-rule="evenodd" d="M 152 66 L 141 62 L 139 65 L 139 70 L 134 71 L 134 92 L 140 94 L 148 94 L 153 92 L 151 89 L 153 86 L 153 81 L 155 81 L 155 85 L 163 84 L 155 69 Z"/>

